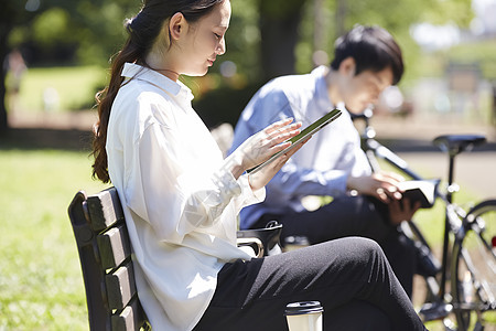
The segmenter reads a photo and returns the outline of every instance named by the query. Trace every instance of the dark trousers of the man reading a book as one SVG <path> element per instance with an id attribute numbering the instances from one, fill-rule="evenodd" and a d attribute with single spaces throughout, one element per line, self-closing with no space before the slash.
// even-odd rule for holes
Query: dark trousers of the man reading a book
<path id="1" fill-rule="evenodd" d="M 389 225 L 387 205 L 374 197 L 342 196 L 314 212 L 288 212 L 283 215 L 265 215 L 252 228 L 265 227 L 268 221 L 281 223 L 281 242 L 288 236 L 306 236 L 310 244 L 348 236 L 376 241 L 385 252 L 399 281 L 411 298 L 416 271 L 413 244 L 396 227 Z"/>

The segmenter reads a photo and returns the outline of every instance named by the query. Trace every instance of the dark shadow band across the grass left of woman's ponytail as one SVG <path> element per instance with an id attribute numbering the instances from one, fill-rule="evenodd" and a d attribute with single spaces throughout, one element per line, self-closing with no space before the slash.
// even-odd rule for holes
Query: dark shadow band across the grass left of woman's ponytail
<path id="1" fill-rule="evenodd" d="M 78 129 L 10 128 L 0 136 L 0 150 L 58 149 L 91 151 L 93 134 Z"/>

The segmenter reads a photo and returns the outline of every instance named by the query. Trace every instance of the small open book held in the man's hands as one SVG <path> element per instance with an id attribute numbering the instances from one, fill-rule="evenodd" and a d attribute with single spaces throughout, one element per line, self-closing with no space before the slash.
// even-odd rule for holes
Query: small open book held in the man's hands
<path id="1" fill-rule="evenodd" d="M 401 193 L 403 199 L 409 199 L 412 205 L 420 201 L 421 209 L 430 209 L 434 205 L 439 182 L 440 180 L 405 181 L 398 188 L 405 191 Z"/>

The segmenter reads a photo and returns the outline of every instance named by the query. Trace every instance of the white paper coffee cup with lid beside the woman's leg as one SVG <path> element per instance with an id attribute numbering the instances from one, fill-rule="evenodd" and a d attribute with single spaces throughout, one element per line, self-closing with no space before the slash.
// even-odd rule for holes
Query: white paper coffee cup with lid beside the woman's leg
<path id="1" fill-rule="evenodd" d="M 322 331 L 322 312 L 319 301 L 289 303 L 284 316 L 290 331 Z"/>

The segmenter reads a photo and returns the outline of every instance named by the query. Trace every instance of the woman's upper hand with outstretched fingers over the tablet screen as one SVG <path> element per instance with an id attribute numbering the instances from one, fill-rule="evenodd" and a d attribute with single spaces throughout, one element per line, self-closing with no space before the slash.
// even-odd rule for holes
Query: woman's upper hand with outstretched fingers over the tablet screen
<path id="1" fill-rule="evenodd" d="M 290 147 L 291 142 L 287 140 L 300 134 L 301 128 L 301 122 L 293 124 L 292 121 L 292 118 L 277 121 L 241 143 L 229 156 L 229 164 L 233 164 L 231 172 L 234 177 L 239 178 L 246 170 L 262 163 L 274 153 Z M 292 154 L 292 150 L 288 152 L 288 156 Z M 285 156 L 281 158 L 287 161 Z M 279 163 L 277 162 L 277 164 Z"/>

